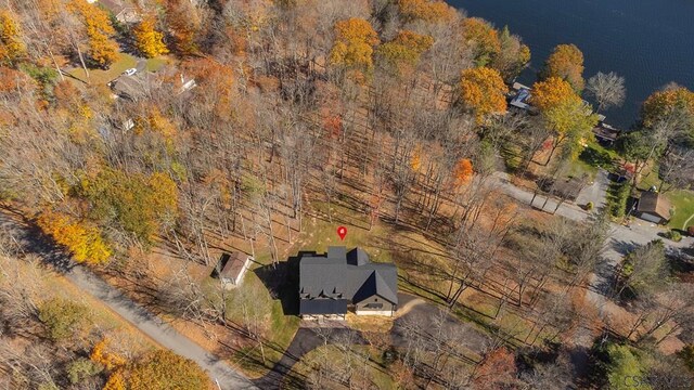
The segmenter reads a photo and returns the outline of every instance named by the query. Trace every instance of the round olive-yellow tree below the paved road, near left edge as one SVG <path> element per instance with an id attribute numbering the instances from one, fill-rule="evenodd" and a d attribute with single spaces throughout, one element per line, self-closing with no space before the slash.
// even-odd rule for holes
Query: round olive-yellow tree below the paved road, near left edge
<path id="1" fill-rule="evenodd" d="M 61 298 L 50 299 L 39 308 L 39 320 L 54 341 L 69 338 L 83 328 L 88 315 L 85 306 Z"/>

